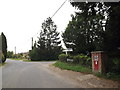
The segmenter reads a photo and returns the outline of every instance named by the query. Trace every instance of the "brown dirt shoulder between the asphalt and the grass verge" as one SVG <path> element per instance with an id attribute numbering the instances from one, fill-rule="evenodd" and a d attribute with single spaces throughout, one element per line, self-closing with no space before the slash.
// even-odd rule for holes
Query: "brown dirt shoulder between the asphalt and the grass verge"
<path id="1" fill-rule="evenodd" d="M 61 70 L 52 64 L 49 65 L 49 69 L 54 73 L 75 82 L 80 88 L 120 88 L 119 82 L 99 78 L 92 74 Z"/>

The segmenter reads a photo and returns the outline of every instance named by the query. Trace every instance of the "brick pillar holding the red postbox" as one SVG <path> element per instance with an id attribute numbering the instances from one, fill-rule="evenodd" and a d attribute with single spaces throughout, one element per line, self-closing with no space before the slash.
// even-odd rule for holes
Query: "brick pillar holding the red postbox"
<path id="1" fill-rule="evenodd" d="M 91 52 L 92 55 L 92 71 L 95 73 L 105 73 L 107 64 L 107 56 L 103 51 Z"/>

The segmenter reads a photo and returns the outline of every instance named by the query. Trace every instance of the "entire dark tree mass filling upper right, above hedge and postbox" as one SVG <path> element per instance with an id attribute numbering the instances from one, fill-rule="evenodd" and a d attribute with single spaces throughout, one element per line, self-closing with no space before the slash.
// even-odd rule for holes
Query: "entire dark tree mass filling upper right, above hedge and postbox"
<path id="1" fill-rule="evenodd" d="M 77 12 L 63 33 L 65 45 L 73 48 L 71 54 L 104 50 L 120 56 L 120 2 L 71 2 L 71 5 Z"/>

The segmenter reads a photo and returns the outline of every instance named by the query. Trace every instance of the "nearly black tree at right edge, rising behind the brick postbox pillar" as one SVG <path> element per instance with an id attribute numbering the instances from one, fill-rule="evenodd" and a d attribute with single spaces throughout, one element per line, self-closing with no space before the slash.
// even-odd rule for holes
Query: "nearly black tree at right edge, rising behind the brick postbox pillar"
<path id="1" fill-rule="evenodd" d="M 104 49 L 120 57 L 120 2 L 105 3 L 109 6 Z"/>

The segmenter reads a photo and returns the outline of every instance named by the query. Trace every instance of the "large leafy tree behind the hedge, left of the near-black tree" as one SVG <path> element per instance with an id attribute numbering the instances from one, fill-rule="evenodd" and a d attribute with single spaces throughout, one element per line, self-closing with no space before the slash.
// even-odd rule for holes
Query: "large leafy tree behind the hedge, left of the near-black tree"
<path id="1" fill-rule="evenodd" d="M 103 17 L 98 6 L 100 3 L 73 2 L 73 7 L 79 11 L 72 16 L 63 38 L 65 42 L 74 50 L 74 54 L 91 52 L 93 50 L 102 50 L 103 42 Z M 71 40 L 71 41 L 70 41 Z"/>

